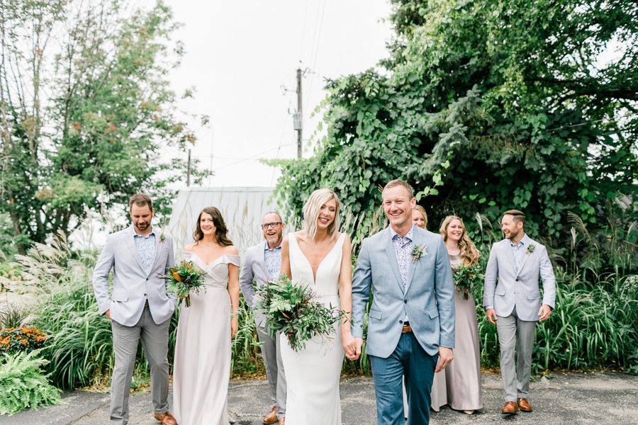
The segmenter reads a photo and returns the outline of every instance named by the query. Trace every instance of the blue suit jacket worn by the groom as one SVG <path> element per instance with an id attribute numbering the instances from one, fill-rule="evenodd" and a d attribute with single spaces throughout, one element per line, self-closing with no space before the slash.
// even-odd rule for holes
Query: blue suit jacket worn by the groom
<path id="1" fill-rule="evenodd" d="M 454 285 L 447 249 L 439 234 L 414 227 L 413 246 L 418 245 L 427 246 L 426 254 L 418 261 L 410 259 L 404 291 L 390 229 L 362 242 L 352 278 L 352 335 L 363 337 L 372 286 L 366 343 L 366 353 L 371 356 L 387 358 L 393 353 L 406 313 L 428 354 L 437 354 L 439 346 L 454 348 Z"/>

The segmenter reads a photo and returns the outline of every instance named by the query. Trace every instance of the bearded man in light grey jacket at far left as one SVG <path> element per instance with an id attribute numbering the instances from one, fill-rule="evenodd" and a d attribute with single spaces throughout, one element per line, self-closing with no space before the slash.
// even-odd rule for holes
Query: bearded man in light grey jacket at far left
<path id="1" fill-rule="evenodd" d="M 171 237 L 153 227 L 151 198 L 129 201 L 133 225 L 108 235 L 93 272 L 100 314 L 111 320 L 115 367 L 111 380 L 111 423 L 128 423 L 128 395 L 141 339 L 150 365 L 155 419 L 177 425 L 168 406 L 168 331 L 176 297 L 166 292 L 164 275 L 173 263 Z M 113 293 L 108 273 L 113 269 Z"/>

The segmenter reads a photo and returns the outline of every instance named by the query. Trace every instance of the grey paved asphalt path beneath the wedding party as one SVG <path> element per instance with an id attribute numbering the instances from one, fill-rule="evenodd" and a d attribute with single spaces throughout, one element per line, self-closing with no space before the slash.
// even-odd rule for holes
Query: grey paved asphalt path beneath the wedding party
<path id="1" fill-rule="evenodd" d="M 237 425 L 262 423 L 260 417 L 269 404 L 266 394 L 266 383 L 261 380 L 230 383 L 228 403 Z M 432 413 L 430 424 L 638 424 L 638 377 L 622 373 L 554 373 L 549 380 L 532 382 L 534 412 L 508 418 L 500 414 L 501 397 L 500 376 L 484 374 L 484 409 L 469 416 L 444 407 Z M 376 424 L 370 378 L 342 380 L 341 399 L 343 424 Z M 107 394 L 72 392 L 64 400 L 62 406 L 0 416 L 0 425 L 108 425 Z M 152 419 L 150 395 L 131 397 L 130 408 L 130 425 L 157 425 Z"/>

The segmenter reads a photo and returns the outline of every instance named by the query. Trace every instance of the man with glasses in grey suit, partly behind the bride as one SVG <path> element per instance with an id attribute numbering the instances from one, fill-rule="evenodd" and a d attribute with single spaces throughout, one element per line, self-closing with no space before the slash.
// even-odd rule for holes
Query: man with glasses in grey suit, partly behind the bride
<path id="1" fill-rule="evenodd" d="M 242 272 L 240 273 L 240 288 L 247 305 L 254 308 L 254 287 L 252 280 L 261 286 L 267 280 L 276 280 L 281 272 L 281 239 L 284 233 L 284 222 L 276 212 L 267 212 L 262 218 L 262 232 L 266 242 L 251 246 L 246 250 Z M 284 365 L 281 363 L 279 338 L 272 339 L 265 327 L 264 317 L 255 312 L 257 337 L 262 343 L 262 358 L 266 367 L 266 376 L 272 399 L 272 409 L 262 421 L 264 424 L 284 423 L 286 416 L 286 376 Z"/>

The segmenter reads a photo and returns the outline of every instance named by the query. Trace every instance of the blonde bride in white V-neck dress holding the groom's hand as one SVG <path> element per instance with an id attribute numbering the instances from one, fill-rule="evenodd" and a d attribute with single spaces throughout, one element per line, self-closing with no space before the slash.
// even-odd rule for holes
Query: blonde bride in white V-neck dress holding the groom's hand
<path id="1" fill-rule="evenodd" d="M 314 191 L 303 206 L 303 229 L 289 233 L 281 246 L 281 273 L 295 285 L 309 285 L 315 300 L 346 312 L 335 324 L 334 338 L 315 336 L 306 348 L 293 351 L 281 335 L 286 370 L 286 425 L 340 425 L 339 380 L 344 349 L 354 350 L 352 311 L 352 246 L 339 227 L 339 199 L 328 189 Z M 337 293 L 338 290 L 338 293 Z"/>

